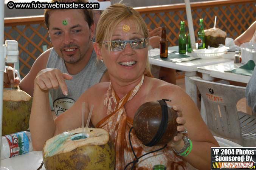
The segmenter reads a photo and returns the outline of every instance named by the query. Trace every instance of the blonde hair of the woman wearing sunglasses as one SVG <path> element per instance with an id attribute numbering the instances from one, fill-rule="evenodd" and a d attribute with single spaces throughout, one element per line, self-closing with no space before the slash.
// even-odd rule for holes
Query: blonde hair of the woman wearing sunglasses
<path id="1" fill-rule="evenodd" d="M 116 26 L 123 20 L 132 20 L 136 24 L 137 32 L 143 32 L 145 38 L 149 37 L 149 32 L 146 23 L 144 22 L 140 13 L 129 6 L 117 3 L 109 6 L 106 10 L 104 10 L 99 19 L 96 29 L 96 43 L 98 43 L 101 48 L 102 42 L 106 42 L 112 39 Z M 147 63 L 144 74 L 152 76 L 150 72 L 148 57 L 146 62 Z"/>

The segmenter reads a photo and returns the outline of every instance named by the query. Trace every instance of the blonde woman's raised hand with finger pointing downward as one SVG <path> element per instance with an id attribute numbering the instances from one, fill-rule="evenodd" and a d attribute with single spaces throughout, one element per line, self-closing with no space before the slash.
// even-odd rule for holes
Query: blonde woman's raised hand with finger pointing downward
<path id="1" fill-rule="evenodd" d="M 49 89 L 57 89 L 61 87 L 62 93 L 67 96 L 68 89 L 65 83 L 66 80 L 71 80 L 73 77 L 67 73 L 61 73 L 59 69 L 53 68 L 46 68 L 41 71 L 36 76 L 35 83 L 42 89 L 42 90 L 49 90 Z"/>

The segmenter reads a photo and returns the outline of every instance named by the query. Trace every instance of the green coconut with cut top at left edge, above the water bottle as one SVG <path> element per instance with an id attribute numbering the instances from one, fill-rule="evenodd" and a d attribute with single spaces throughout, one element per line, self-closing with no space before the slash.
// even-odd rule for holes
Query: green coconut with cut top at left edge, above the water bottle
<path id="1" fill-rule="evenodd" d="M 2 135 L 28 130 L 32 97 L 19 89 L 3 90 Z"/>

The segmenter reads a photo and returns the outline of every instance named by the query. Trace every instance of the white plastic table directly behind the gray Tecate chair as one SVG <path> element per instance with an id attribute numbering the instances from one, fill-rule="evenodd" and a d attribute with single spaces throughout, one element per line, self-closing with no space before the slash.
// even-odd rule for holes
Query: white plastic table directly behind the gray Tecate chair
<path id="1" fill-rule="evenodd" d="M 242 63 L 234 63 L 234 61 L 229 61 L 226 63 L 218 63 L 214 65 L 201 66 L 197 67 L 197 71 L 202 73 L 202 78 L 207 81 L 212 81 L 214 78 L 231 80 L 241 83 L 248 83 L 251 76 L 244 76 L 240 74 L 234 74 L 231 72 L 226 72 L 227 70 L 233 70 L 235 68 L 239 68 L 244 64 Z M 201 100 L 201 116 L 206 123 L 206 110 L 203 99 Z"/>

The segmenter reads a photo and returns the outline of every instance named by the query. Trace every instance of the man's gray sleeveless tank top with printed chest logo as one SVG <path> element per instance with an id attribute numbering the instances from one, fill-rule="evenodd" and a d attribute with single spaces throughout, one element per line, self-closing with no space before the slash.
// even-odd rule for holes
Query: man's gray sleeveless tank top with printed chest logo
<path id="1" fill-rule="evenodd" d="M 61 88 L 49 90 L 56 116 L 68 110 L 85 90 L 101 80 L 107 68 L 102 61 L 97 62 L 96 58 L 96 53 L 93 50 L 92 56 L 84 69 L 76 75 L 71 75 L 73 79 L 65 80 L 68 88 L 68 96 L 62 93 Z M 68 73 L 64 60 L 58 56 L 54 48 L 50 52 L 46 68 L 57 68 L 62 73 Z"/>

